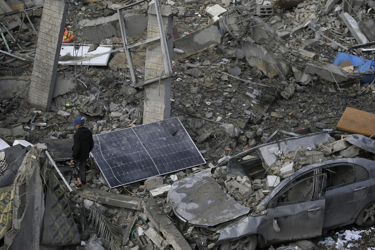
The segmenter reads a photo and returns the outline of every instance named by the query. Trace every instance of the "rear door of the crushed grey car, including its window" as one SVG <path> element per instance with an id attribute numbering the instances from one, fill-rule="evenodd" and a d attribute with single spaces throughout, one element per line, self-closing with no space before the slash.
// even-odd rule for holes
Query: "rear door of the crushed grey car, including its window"
<path id="1" fill-rule="evenodd" d="M 358 165 L 341 163 L 322 167 L 322 173 L 327 174 L 323 230 L 352 223 L 370 190 L 368 171 Z"/>

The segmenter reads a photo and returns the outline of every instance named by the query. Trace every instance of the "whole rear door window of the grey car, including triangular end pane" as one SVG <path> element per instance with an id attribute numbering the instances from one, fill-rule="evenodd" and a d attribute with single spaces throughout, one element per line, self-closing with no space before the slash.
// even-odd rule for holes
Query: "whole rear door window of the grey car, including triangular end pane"
<path id="1" fill-rule="evenodd" d="M 349 164 L 324 167 L 322 173 L 327 174 L 327 190 L 369 178 L 366 169 Z"/>

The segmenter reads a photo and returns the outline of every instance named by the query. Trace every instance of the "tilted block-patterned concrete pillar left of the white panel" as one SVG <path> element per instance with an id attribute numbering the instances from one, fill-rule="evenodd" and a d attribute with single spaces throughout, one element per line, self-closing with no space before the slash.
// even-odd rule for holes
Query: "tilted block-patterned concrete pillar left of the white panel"
<path id="1" fill-rule="evenodd" d="M 62 0 L 44 1 L 28 94 L 28 102 L 42 110 L 51 105 L 67 14 L 67 4 Z"/>

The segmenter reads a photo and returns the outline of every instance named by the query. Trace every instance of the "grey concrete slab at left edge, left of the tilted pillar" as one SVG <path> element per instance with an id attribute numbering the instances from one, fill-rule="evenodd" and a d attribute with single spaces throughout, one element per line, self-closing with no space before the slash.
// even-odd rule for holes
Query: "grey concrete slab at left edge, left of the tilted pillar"
<path id="1" fill-rule="evenodd" d="M 0 77 L 0 99 L 10 99 L 15 96 L 30 82 L 30 76 Z M 27 98 L 30 86 L 20 95 Z"/>

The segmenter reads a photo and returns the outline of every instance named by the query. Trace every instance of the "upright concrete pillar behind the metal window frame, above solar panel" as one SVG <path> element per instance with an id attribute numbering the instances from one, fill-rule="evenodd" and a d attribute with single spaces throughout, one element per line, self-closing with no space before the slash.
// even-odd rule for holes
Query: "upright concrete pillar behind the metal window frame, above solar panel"
<path id="1" fill-rule="evenodd" d="M 169 58 L 172 59 L 173 15 L 170 6 L 160 6 L 164 31 L 167 34 Z M 155 6 L 148 10 L 147 39 L 159 36 Z M 145 79 L 159 77 L 164 69 L 160 40 L 150 42 L 146 48 Z M 168 119 L 171 114 L 171 78 L 144 86 L 143 123 Z"/>

